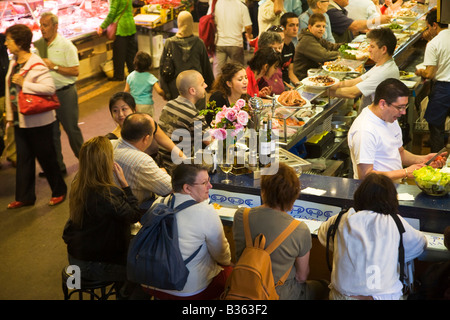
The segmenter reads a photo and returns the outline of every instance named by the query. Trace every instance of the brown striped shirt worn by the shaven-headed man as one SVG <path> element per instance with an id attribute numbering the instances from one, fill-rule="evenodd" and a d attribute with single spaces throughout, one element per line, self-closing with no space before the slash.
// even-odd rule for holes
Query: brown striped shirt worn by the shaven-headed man
<path id="1" fill-rule="evenodd" d="M 178 96 L 167 102 L 161 111 L 158 125 L 186 156 L 193 156 L 202 148 L 206 120 L 188 99 Z M 158 154 L 163 167 L 170 170 L 174 166 L 171 151 L 159 147 Z"/>

